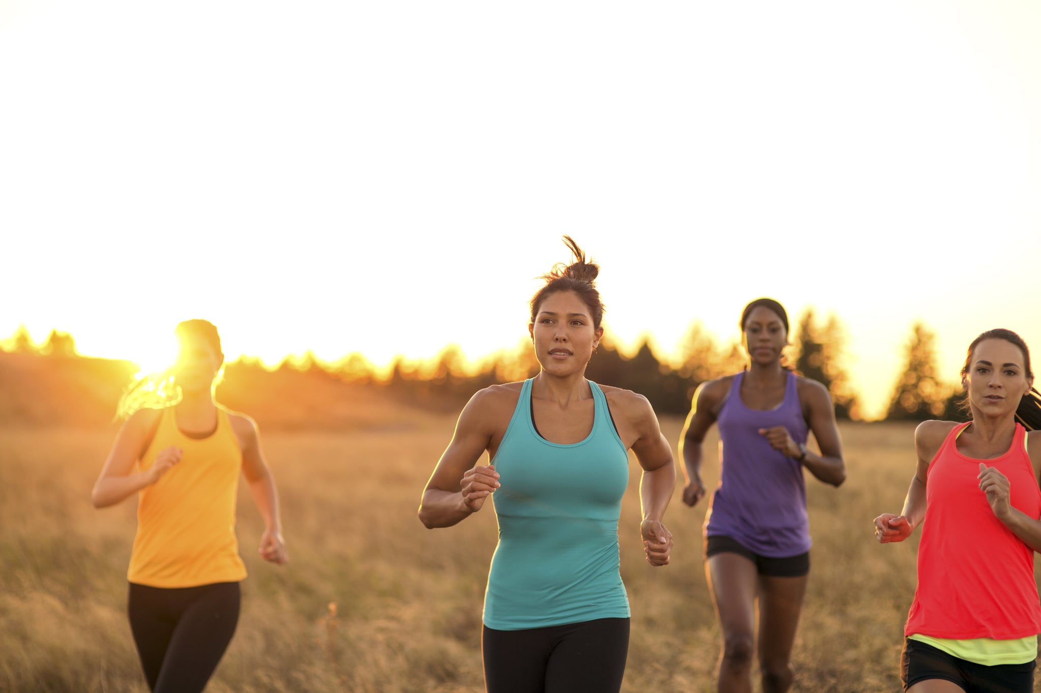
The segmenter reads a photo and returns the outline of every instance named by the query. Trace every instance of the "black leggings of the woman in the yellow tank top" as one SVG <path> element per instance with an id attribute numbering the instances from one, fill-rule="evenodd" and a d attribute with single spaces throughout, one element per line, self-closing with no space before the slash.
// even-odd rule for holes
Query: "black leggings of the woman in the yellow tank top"
<path id="1" fill-rule="evenodd" d="M 238 583 L 159 588 L 130 583 L 127 612 L 148 688 L 200 693 L 238 623 Z"/>

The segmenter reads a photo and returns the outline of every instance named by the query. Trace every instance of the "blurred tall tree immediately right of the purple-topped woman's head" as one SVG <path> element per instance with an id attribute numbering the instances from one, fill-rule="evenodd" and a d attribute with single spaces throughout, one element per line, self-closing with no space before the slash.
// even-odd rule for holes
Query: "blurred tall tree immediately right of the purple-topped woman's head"
<path id="1" fill-rule="evenodd" d="M 838 418 L 856 418 L 860 406 L 842 367 L 846 338 L 838 317 L 834 313 L 829 315 L 820 327 L 813 309 L 807 308 L 798 319 L 797 334 L 795 370 L 828 388 Z"/>

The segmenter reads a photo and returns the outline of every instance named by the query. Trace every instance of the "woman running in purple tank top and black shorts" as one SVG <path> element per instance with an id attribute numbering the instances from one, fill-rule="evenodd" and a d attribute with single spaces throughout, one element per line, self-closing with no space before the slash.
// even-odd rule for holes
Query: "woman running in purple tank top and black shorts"
<path id="1" fill-rule="evenodd" d="M 702 383 L 680 436 L 683 502 L 694 506 L 705 495 L 702 441 L 717 422 L 719 486 L 704 528 L 705 576 L 723 639 L 717 690 L 751 692 L 758 652 L 763 692 L 782 693 L 793 678 L 791 647 L 810 571 L 803 467 L 838 486 L 845 463 L 828 390 L 781 364 L 785 309 L 757 299 L 745 306 L 740 327 L 751 365 Z M 819 454 L 806 447 L 810 432 Z"/>

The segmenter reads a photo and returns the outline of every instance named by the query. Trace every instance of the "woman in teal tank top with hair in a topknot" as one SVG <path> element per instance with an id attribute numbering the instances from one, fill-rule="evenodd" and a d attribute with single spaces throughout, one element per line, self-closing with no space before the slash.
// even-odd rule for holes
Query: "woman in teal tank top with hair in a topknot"
<path id="1" fill-rule="evenodd" d="M 668 441 L 643 396 L 585 378 L 604 329 L 599 267 L 544 276 L 528 326 L 540 370 L 476 393 L 423 492 L 420 519 L 451 527 L 494 495 L 499 545 L 488 572 L 482 654 L 488 693 L 616 693 L 629 645 L 618 572 L 628 451 L 643 469 L 648 562 L 668 563 L 662 516 L 676 485 Z M 487 451 L 491 463 L 478 465 Z"/>

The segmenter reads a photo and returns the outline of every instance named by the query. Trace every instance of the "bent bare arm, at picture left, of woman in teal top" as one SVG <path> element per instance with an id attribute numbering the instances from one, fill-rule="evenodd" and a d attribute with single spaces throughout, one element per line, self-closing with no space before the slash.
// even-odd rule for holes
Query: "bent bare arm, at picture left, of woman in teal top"
<path id="1" fill-rule="evenodd" d="M 499 473 L 490 464 L 475 466 L 494 432 L 491 396 L 488 389 L 481 390 L 459 414 L 452 441 L 423 490 L 420 520 L 428 529 L 459 523 L 479 511 L 499 487 Z"/>

